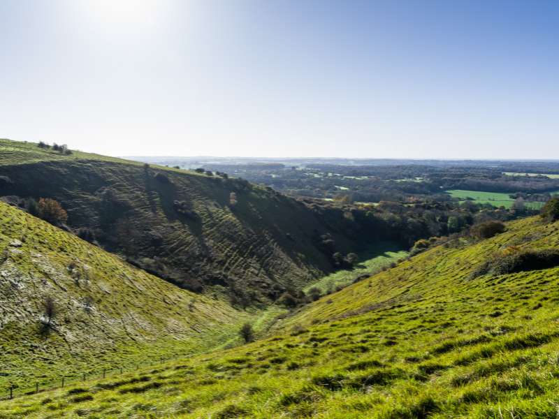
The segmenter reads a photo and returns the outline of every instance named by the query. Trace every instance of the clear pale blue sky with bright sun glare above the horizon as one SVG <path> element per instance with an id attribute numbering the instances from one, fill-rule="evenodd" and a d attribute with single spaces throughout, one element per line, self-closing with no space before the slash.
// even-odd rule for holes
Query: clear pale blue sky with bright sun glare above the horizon
<path id="1" fill-rule="evenodd" d="M 559 159 L 559 1 L 0 0 L 0 138 Z"/>

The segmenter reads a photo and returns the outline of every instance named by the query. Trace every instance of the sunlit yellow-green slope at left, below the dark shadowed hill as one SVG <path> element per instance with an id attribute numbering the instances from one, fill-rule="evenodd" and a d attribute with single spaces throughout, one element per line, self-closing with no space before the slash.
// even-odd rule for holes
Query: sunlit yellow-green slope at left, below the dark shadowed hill
<path id="1" fill-rule="evenodd" d="M 248 317 L 0 203 L 1 387 L 200 352 Z"/>

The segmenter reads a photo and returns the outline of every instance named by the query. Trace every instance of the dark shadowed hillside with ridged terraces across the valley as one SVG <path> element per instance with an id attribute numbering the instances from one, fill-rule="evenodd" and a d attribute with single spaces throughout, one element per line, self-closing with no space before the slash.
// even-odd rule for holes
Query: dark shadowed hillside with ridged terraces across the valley
<path id="1" fill-rule="evenodd" d="M 55 198 L 68 226 L 194 291 L 217 286 L 241 300 L 274 300 L 331 272 L 333 251 L 376 238 L 374 226 L 341 210 L 318 214 L 241 179 L 8 140 L 0 141 L 0 155 L 0 196 Z"/>

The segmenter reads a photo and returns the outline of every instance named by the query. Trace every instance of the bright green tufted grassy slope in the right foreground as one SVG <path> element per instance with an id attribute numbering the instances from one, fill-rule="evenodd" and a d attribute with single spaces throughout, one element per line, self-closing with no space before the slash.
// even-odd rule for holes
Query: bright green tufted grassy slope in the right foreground
<path id="1" fill-rule="evenodd" d="M 480 267 L 558 246 L 559 223 L 515 221 L 491 239 L 449 242 L 323 297 L 268 339 L 3 402 L 0 412 L 556 418 L 559 267 L 508 274 Z"/>

